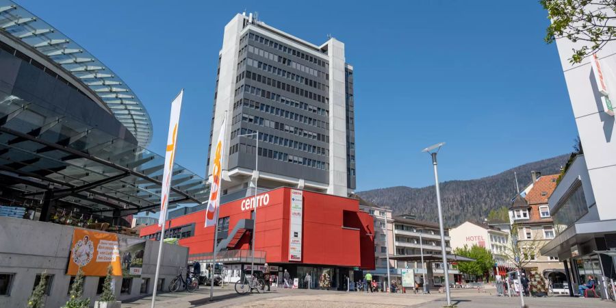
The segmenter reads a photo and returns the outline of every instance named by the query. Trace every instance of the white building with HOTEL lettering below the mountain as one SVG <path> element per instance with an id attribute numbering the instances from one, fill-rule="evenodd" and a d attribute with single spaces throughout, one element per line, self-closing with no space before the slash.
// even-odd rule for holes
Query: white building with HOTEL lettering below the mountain
<path id="1" fill-rule="evenodd" d="M 465 221 L 458 227 L 449 231 L 451 237 L 451 247 L 456 248 L 472 247 L 473 245 L 486 248 L 492 253 L 494 262 L 498 266 L 509 266 L 506 251 L 509 243 L 509 233 L 501 231 L 488 224 L 478 224 L 476 222 Z"/>

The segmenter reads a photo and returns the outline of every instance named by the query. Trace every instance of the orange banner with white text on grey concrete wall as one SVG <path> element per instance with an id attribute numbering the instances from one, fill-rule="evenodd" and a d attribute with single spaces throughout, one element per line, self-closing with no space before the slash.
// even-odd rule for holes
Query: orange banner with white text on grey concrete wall
<path id="1" fill-rule="evenodd" d="M 120 276 L 119 253 L 118 235 L 75 229 L 66 274 L 75 276 L 81 268 L 85 276 L 106 276 L 107 267 L 112 264 L 114 276 Z"/>

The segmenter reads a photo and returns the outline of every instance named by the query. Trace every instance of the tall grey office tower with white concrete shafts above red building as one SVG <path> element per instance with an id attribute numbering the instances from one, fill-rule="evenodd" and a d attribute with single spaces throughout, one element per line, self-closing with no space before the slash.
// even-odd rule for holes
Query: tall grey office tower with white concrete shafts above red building
<path id="1" fill-rule="evenodd" d="M 226 116 L 223 196 L 250 194 L 257 154 L 259 188 L 348 196 L 355 189 L 353 109 L 344 43 L 330 38 L 317 46 L 238 14 L 224 27 L 218 55 L 208 175 L 212 138 Z M 239 136 L 256 131 L 258 151 L 256 136 Z"/>

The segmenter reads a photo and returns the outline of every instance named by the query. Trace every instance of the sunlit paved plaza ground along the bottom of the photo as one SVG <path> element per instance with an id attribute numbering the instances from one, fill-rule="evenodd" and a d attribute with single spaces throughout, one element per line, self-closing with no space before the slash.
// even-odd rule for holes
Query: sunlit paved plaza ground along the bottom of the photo
<path id="1" fill-rule="evenodd" d="M 519 307 L 517 297 L 499 297 L 494 289 L 485 292 L 477 290 L 453 290 L 452 302 L 457 307 Z M 546 298 L 524 298 L 528 307 L 613 307 L 616 303 L 598 298 L 572 298 L 569 296 L 552 296 Z M 443 307 L 446 303 L 444 294 L 385 294 L 363 292 L 338 292 L 324 290 L 290 290 L 272 288 L 265 294 L 235 294 L 231 287 L 216 287 L 214 301 L 209 301 L 209 289 L 202 286 L 194 293 L 164 293 L 157 296 L 157 307 Z M 132 303 L 123 303 L 122 307 L 147 308 L 151 297 L 145 297 Z"/>

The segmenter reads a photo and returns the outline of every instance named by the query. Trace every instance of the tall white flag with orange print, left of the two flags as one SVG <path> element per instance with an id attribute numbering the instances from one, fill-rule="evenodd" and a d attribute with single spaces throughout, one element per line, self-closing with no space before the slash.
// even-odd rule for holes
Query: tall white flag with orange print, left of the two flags
<path id="1" fill-rule="evenodd" d="M 184 90 L 177 94 L 171 102 L 171 118 L 169 120 L 169 134 L 167 136 L 167 149 L 165 152 L 165 169 L 163 171 L 162 190 L 160 194 L 160 216 L 158 225 L 162 226 L 167 218 L 167 205 L 169 203 L 169 190 L 171 188 L 171 175 L 173 174 L 173 159 L 175 159 L 175 149 L 177 141 L 177 125 L 179 114 L 182 107 L 182 96 Z"/>

